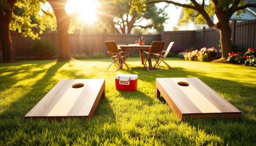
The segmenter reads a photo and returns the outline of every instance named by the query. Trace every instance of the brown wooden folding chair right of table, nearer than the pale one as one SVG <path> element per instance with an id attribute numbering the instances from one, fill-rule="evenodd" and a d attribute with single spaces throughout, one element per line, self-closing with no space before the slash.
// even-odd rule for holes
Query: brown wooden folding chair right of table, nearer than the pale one
<path id="1" fill-rule="evenodd" d="M 157 70 L 149 70 L 149 67 L 147 66 L 147 61 L 149 59 L 151 60 L 152 58 L 154 58 L 155 61 L 156 61 L 156 64 L 158 64 L 158 61 L 159 61 L 160 56 L 161 56 L 161 53 L 163 51 L 163 47 L 164 47 L 164 41 L 153 41 L 152 44 L 151 44 L 149 52 L 143 51 L 147 55 L 146 56 L 143 55 L 143 59 L 144 59 L 145 63 L 144 63 L 144 66 L 142 67 L 142 69 L 146 65 L 148 71 L 157 71 Z M 159 65 L 159 68 L 160 68 L 160 70 L 162 70 L 160 65 Z"/>

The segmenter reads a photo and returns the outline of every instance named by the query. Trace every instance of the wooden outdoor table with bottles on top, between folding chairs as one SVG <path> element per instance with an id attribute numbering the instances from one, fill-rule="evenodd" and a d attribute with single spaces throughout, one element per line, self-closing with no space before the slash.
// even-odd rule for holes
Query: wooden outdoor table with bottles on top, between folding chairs
<path id="1" fill-rule="evenodd" d="M 151 45 L 118 45 L 117 47 L 121 51 L 139 50 L 139 57 L 141 59 L 141 64 L 144 65 L 143 50 L 147 50 L 148 52 L 150 50 Z M 149 59 L 148 62 L 149 62 L 149 69 L 152 69 L 151 59 Z M 121 60 L 119 60 L 119 63 L 121 63 Z M 122 69 L 122 66 L 120 67 L 120 69 Z"/>

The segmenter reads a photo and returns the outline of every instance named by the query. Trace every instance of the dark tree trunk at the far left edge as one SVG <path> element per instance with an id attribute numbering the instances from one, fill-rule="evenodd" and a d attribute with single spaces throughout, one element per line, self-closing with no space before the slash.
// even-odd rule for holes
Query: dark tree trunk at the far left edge
<path id="1" fill-rule="evenodd" d="M 2 61 L 14 61 L 13 43 L 11 41 L 10 22 L 14 4 L 5 12 L 0 11 L 0 51 L 2 51 Z"/>

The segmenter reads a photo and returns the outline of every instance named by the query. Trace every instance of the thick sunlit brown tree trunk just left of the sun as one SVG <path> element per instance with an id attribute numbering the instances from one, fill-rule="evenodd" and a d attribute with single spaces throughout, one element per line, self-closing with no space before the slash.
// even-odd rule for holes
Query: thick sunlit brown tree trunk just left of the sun
<path id="1" fill-rule="evenodd" d="M 70 24 L 70 17 L 65 11 L 65 3 L 67 0 L 48 0 L 53 8 L 55 17 L 57 19 L 58 31 L 58 60 L 70 60 L 71 51 L 68 38 L 68 27 Z"/>

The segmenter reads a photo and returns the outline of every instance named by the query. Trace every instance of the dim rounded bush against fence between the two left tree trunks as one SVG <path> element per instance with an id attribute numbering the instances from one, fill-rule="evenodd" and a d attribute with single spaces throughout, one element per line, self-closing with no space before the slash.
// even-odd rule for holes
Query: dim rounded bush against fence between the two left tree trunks
<path id="1" fill-rule="evenodd" d="M 31 50 L 40 56 L 53 56 L 56 50 L 55 43 L 50 40 L 35 40 Z"/>

